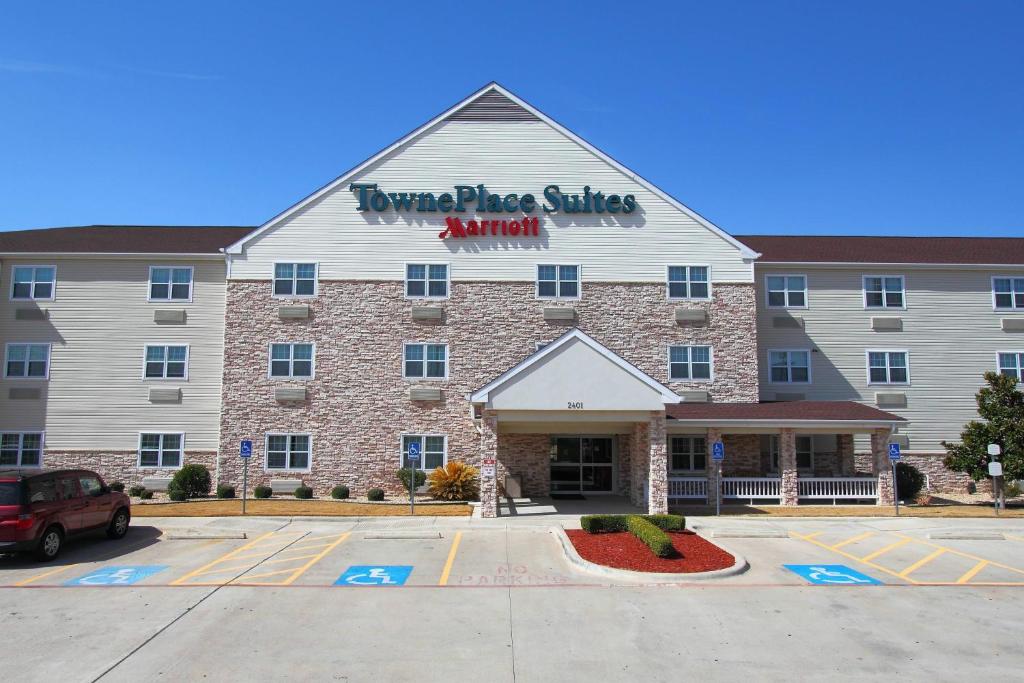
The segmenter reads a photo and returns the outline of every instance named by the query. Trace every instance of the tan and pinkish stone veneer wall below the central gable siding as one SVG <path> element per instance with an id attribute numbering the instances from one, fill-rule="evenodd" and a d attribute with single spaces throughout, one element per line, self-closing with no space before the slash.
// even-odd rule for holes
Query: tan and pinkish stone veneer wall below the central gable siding
<path id="1" fill-rule="evenodd" d="M 532 353 L 536 342 L 551 341 L 572 325 L 673 390 L 707 389 L 718 401 L 758 399 L 753 285 L 715 285 L 713 301 L 687 303 L 709 311 L 706 326 L 678 325 L 674 312 L 680 304 L 666 300 L 663 284 L 585 283 L 580 300 L 561 304 L 575 309 L 571 325 L 544 321 L 543 308 L 551 304 L 535 299 L 532 282 L 455 282 L 451 298 L 441 301 L 406 299 L 400 282 L 331 281 L 318 287 L 316 297 L 301 300 L 310 307 L 308 319 L 283 321 L 278 308 L 288 301 L 270 295 L 269 282 L 228 282 L 224 483 L 241 480 L 238 444 L 244 438 L 253 439 L 252 485 L 301 478 L 317 495 L 340 483 L 356 496 L 372 486 L 398 493 L 394 471 L 402 433 L 445 434 L 450 460 L 479 465 L 479 433 L 465 396 Z M 414 305 L 438 306 L 443 319 L 414 322 Z M 287 341 L 316 344 L 313 379 L 268 379 L 268 345 Z M 449 379 L 403 380 L 403 341 L 446 342 Z M 669 382 L 668 346 L 688 343 L 714 347 L 713 384 Z M 416 384 L 440 387 L 442 399 L 411 401 L 409 389 Z M 276 386 L 304 386 L 306 400 L 278 402 Z M 271 431 L 312 435 L 309 472 L 263 471 L 265 434 Z M 530 486 L 542 481 L 538 466 L 528 465 L 535 471 L 523 474 Z"/>

